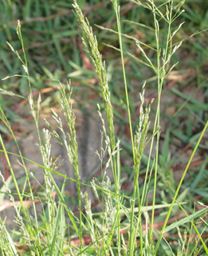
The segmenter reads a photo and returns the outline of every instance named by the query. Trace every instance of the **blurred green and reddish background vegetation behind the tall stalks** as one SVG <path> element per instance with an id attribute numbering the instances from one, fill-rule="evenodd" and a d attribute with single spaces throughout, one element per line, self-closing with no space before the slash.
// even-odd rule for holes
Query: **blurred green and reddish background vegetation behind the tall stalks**
<path id="1" fill-rule="evenodd" d="M 80 0 L 79 4 L 96 33 L 100 52 L 106 60 L 112 103 L 116 123 L 119 125 L 117 135 L 121 137 L 125 152 L 128 153 L 123 156 L 125 161 L 131 159 L 131 150 L 128 150 L 129 130 L 120 53 L 106 46 L 108 44 L 118 47 L 118 39 L 117 35 L 110 30 L 101 30 L 96 26 L 116 30 L 112 3 L 107 0 Z M 152 14 L 135 5 L 134 2 L 121 1 L 120 6 L 123 33 L 139 38 L 145 44 L 151 44 L 154 47 L 154 31 L 147 30 L 145 27 L 154 27 Z M 172 178 L 171 170 L 175 173 L 184 169 L 208 116 L 208 2 L 207 0 L 186 0 L 183 8 L 185 12 L 175 20 L 175 27 L 172 30 L 174 32 L 180 23 L 185 22 L 174 39 L 175 42 L 184 40 L 171 62 L 171 65 L 175 62 L 179 62 L 179 64 L 165 82 L 162 99 L 161 115 L 164 126 L 161 133 L 161 142 L 163 143 L 159 158 L 159 186 L 163 188 L 164 192 L 167 192 L 166 189 L 168 190 L 170 184 L 174 190 L 175 181 Z M 14 50 L 18 50 L 18 53 L 22 55 L 21 43 L 16 34 L 17 20 L 19 19 L 22 24 L 22 37 L 33 92 L 34 94 L 41 92 L 41 106 L 45 108 L 56 105 L 59 102 L 58 80 L 65 83 L 71 78 L 73 97 L 77 100 L 77 107 L 84 110 L 84 105 L 90 102 L 95 105 L 96 109 L 96 103 L 100 101 L 100 89 L 88 54 L 83 50 L 80 30 L 72 11 L 72 2 L 2 0 L 0 12 L 0 79 L 14 74 L 22 75 L 22 77 L 14 76 L 2 80 L 1 88 L 25 97 L 28 94 L 27 78 L 21 62 L 6 44 L 6 42 L 10 42 Z M 166 29 L 166 25 L 162 23 L 160 26 L 162 42 L 166 37 Z M 142 58 L 135 42 L 130 38 L 124 37 L 124 50 Z M 153 50 L 145 49 L 145 46 L 144 50 L 147 50 L 149 58 L 155 58 Z M 143 82 L 147 80 L 146 97 L 149 101 L 151 98 L 157 97 L 156 78 L 147 66 L 135 61 L 128 54 L 125 56 L 125 65 L 128 71 L 131 114 L 135 126 L 139 114 L 139 92 L 141 92 Z M 86 88 L 88 88 L 88 94 L 84 93 Z M 80 96 L 77 97 L 77 95 L 81 95 L 82 99 L 80 100 Z M 26 102 L 21 98 L 0 94 L 0 102 L 7 117 L 13 123 L 28 118 L 26 115 L 18 114 L 17 110 L 20 107 L 23 109 L 26 107 Z M 154 114 L 154 106 L 151 112 Z M 6 133 L 2 124 L 0 124 L 0 129 Z M 143 158 L 143 167 L 145 168 L 145 158 Z M 123 168 L 124 171 L 128 171 L 125 169 L 126 167 L 123 166 Z M 129 175 L 131 176 L 131 174 Z M 207 203 L 208 187 L 204 182 L 208 178 L 207 135 L 202 141 L 189 175 L 190 178 L 186 180 L 183 189 L 190 187 L 196 197 L 204 198 L 203 201 Z M 171 196 L 171 191 L 167 193 L 170 193 Z M 192 200 L 190 200 L 191 202 Z"/>

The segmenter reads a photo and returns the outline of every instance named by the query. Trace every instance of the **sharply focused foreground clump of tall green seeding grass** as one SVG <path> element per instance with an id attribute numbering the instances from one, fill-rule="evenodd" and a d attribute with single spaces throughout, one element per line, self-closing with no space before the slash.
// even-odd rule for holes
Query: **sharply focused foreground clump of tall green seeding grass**
<path id="1" fill-rule="evenodd" d="M 100 112 L 100 106 L 98 106 L 100 122 L 103 124 L 102 132 L 102 147 L 99 154 L 101 168 L 102 168 L 102 177 L 100 180 L 92 180 L 91 184 L 84 184 L 81 181 L 79 173 L 79 159 L 77 154 L 77 139 L 76 139 L 76 129 L 75 129 L 75 115 L 73 114 L 73 106 L 71 103 L 72 95 L 72 86 L 70 83 L 67 86 L 60 86 L 61 92 L 61 109 L 64 113 L 65 120 L 68 124 L 69 132 L 66 132 L 63 128 L 61 118 L 58 114 L 53 111 L 53 118 L 57 121 L 57 127 L 61 131 L 61 135 L 57 133 L 57 130 L 54 129 L 49 122 L 46 121 L 46 124 L 49 126 L 49 130 L 43 130 L 43 139 L 41 138 L 41 132 L 39 131 L 39 111 L 40 111 L 40 102 L 41 97 L 37 99 L 37 103 L 33 99 L 32 88 L 29 80 L 29 67 L 27 66 L 26 54 L 24 51 L 24 44 L 22 40 L 21 27 L 18 24 L 18 37 L 22 43 L 22 51 L 24 58 L 22 59 L 18 52 L 18 58 L 21 60 L 23 68 L 26 72 L 26 76 L 29 82 L 29 106 L 33 114 L 34 121 L 37 127 L 37 134 L 39 138 L 39 150 L 41 152 L 42 166 L 45 174 L 45 186 L 43 186 L 44 196 L 38 196 L 38 200 L 43 204 L 46 203 L 47 207 L 45 210 L 42 206 L 42 218 L 41 224 L 39 223 L 39 218 L 35 206 L 35 198 L 33 195 L 33 190 L 30 184 L 30 178 L 33 176 L 29 174 L 29 170 L 26 168 L 25 161 L 28 159 L 22 156 L 21 150 L 18 146 L 18 141 L 16 140 L 13 130 L 10 127 L 10 122 L 6 118 L 2 108 L 1 110 L 1 119 L 2 122 L 6 125 L 7 129 L 13 135 L 14 142 L 18 147 L 18 157 L 21 159 L 21 164 L 24 167 L 26 172 L 26 182 L 23 186 L 22 191 L 18 187 L 17 179 L 15 178 L 14 170 L 10 165 L 10 152 L 7 152 L 2 136 L 0 136 L 0 142 L 2 145 L 2 152 L 6 156 L 6 162 L 10 166 L 10 172 L 14 181 L 15 188 L 17 190 L 18 198 L 20 201 L 20 207 L 18 209 L 15 206 L 14 193 L 10 191 L 10 188 L 7 186 L 6 181 L 4 181 L 2 174 L 2 181 L 6 188 L 6 194 L 10 195 L 10 200 L 14 204 L 14 209 L 17 214 L 17 223 L 20 227 L 20 232 L 22 238 L 19 242 L 22 245 L 26 246 L 26 254 L 31 255 L 158 255 L 158 254 L 189 254 L 190 249 L 190 240 L 186 241 L 186 234 L 189 232 L 192 234 L 192 229 L 195 230 L 198 235 L 198 239 L 202 243 L 202 247 L 198 246 L 198 241 L 195 242 L 195 247 L 193 253 L 199 250 L 203 250 L 208 253 L 206 247 L 206 241 L 202 238 L 202 233 L 206 230 L 206 227 L 203 230 L 200 230 L 196 226 L 195 218 L 200 218 L 202 222 L 205 220 L 202 218 L 202 214 L 206 214 L 207 207 L 203 206 L 202 210 L 193 212 L 192 214 L 186 214 L 186 210 L 182 207 L 182 202 L 177 202 L 176 199 L 179 196 L 179 191 L 182 187 L 182 182 L 185 178 L 186 172 L 190 166 L 190 162 L 194 157 L 198 145 L 202 140 L 203 135 L 206 132 L 208 121 L 204 126 L 198 142 L 194 146 L 193 153 L 190 156 L 190 160 L 186 165 L 186 169 L 182 174 L 182 178 L 179 182 L 177 189 L 174 191 L 174 196 L 171 199 L 169 204 L 156 204 L 157 196 L 157 181 L 158 181 L 158 162 L 159 162 L 159 135 L 160 135 L 160 102 L 161 94 L 163 89 L 163 83 L 167 74 L 170 74 L 171 70 L 175 65 L 171 66 L 171 58 L 175 51 L 178 50 L 182 42 L 175 43 L 173 38 L 175 34 L 179 31 L 179 27 L 172 31 L 172 23 L 175 22 L 176 18 L 179 18 L 179 15 L 182 14 L 182 3 L 175 4 L 173 0 L 163 2 L 159 5 L 152 0 L 147 1 L 147 3 L 134 1 L 135 4 L 150 10 L 152 13 L 152 18 L 154 20 L 155 27 L 148 28 L 154 31 L 155 33 L 155 48 L 148 46 L 139 40 L 135 40 L 135 47 L 138 47 L 140 52 L 143 54 L 143 59 L 136 58 L 139 62 L 142 62 L 144 65 L 148 66 L 155 72 L 157 78 L 157 88 L 158 88 L 158 99 L 157 107 L 155 111 L 155 122 L 153 124 L 153 130 L 151 135 L 148 137 L 148 132 L 150 128 L 149 115 L 151 111 L 151 103 L 147 106 L 144 105 L 144 86 L 142 93 L 140 94 L 140 112 L 139 112 L 139 121 L 136 130 L 132 129 L 131 126 L 131 110 L 128 100 L 128 86 L 126 82 L 125 74 L 125 65 L 124 65 L 124 52 L 123 50 L 123 34 L 120 24 L 120 7 L 116 0 L 112 0 L 112 6 L 115 10 L 116 22 L 117 22 L 117 31 L 114 31 L 118 34 L 120 48 L 117 49 L 121 54 L 121 62 L 123 67 L 124 75 L 124 90 L 126 94 L 127 101 L 127 112 L 128 120 L 131 133 L 131 150 L 133 156 L 134 168 L 132 171 L 133 175 L 133 186 L 132 194 L 126 195 L 125 191 L 121 190 L 121 173 L 120 173 L 120 140 L 116 138 L 115 135 L 115 125 L 113 118 L 113 107 L 111 101 L 111 94 L 108 88 L 108 79 L 106 74 L 106 69 L 100 51 L 98 50 L 98 44 L 96 37 L 92 32 L 92 28 L 89 25 L 89 22 L 82 11 L 80 6 L 77 4 L 77 1 L 73 1 L 74 12 L 77 16 L 77 21 L 79 22 L 80 28 L 83 32 L 83 44 L 84 49 L 87 50 L 88 55 L 92 60 L 92 64 L 96 70 L 96 74 L 99 78 L 100 89 L 102 91 L 102 99 L 104 102 L 104 110 L 107 117 L 108 129 L 104 125 L 104 118 Z M 160 40 L 160 21 L 163 20 L 167 23 L 167 38 L 164 42 Z M 149 58 L 143 49 L 143 47 L 151 47 L 156 56 L 156 62 L 153 62 Z M 10 46 L 11 50 L 14 51 L 14 48 Z M 14 51 L 15 52 L 15 51 Z M 57 143 L 63 146 L 68 154 L 69 162 L 73 166 L 73 172 L 75 179 L 69 178 L 63 174 L 58 173 L 58 165 L 56 161 L 53 161 L 51 157 L 51 145 L 50 138 L 53 136 Z M 147 143 L 150 143 L 149 156 L 147 160 L 147 169 L 143 184 L 139 183 L 139 171 L 140 163 L 143 157 L 143 150 L 147 146 Z M 155 153 L 153 154 L 153 148 L 155 147 Z M 108 162 L 106 166 L 102 166 L 104 154 L 108 152 Z M 153 161 L 151 161 L 153 158 Z M 131 167 L 129 167 L 131 168 Z M 112 171 L 113 180 L 108 177 L 108 172 Z M 61 175 L 67 179 L 76 182 L 77 184 L 77 204 L 79 207 L 78 217 L 76 214 L 73 214 L 73 210 L 70 209 L 66 200 L 65 200 L 65 182 L 61 189 L 57 186 L 55 178 L 52 174 Z M 154 176 L 153 176 L 154 174 Z M 152 177 L 153 176 L 153 177 Z M 151 180 L 153 178 L 153 193 L 152 193 L 152 203 L 151 206 L 146 206 L 147 204 L 147 194 L 151 192 Z M 26 187 L 29 186 L 29 194 L 26 194 Z M 90 187 L 96 198 L 101 202 L 101 211 L 93 212 L 91 206 L 91 199 L 88 198 L 88 193 L 85 191 L 84 194 L 81 193 L 81 187 L 84 189 Z M 59 202 L 55 201 L 55 198 L 52 196 L 53 190 L 56 190 L 57 195 L 59 196 Z M 29 214 L 28 209 L 24 205 L 23 198 L 27 197 L 31 200 L 34 211 L 34 221 L 33 217 Z M 85 214 L 82 211 L 82 198 L 84 200 Z M 186 214 L 185 218 L 181 218 L 178 222 L 167 226 L 168 220 L 171 216 L 171 212 L 174 206 L 179 206 L 182 211 Z M 155 229 L 155 209 L 165 209 L 165 221 L 163 222 L 162 230 L 158 231 Z M 151 214 L 148 214 L 148 211 L 151 211 Z M 24 218 L 22 218 L 22 215 Z M 67 218 L 67 216 L 69 218 Z M 69 224 L 68 224 L 69 222 Z M 145 224 L 145 233 L 143 232 L 143 223 Z M 190 229 L 184 232 L 184 238 L 181 236 L 179 227 L 183 224 L 190 223 Z M 66 226 L 70 230 L 69 241 L 65 238 L 66 236 Z M 179 238 L 180 238 L 180 248 L 178 252 L 175 252 L 175 248 L 171 246 L 171 243 L 168 243 L 164 238 L 164 234 L 173 229 L 178 229 Z M 10 232 L 6 230 L 5 221 L 1 219 L 0 222 L 0 231 L 3 232 L 0 240 L 0 251 L 2 255 L 18 255 L 18 246 L 16 246 L 13 237 L 10 235 Z M 84 244 L 84 237 L 89 236 L 91 241 L 88 242 L 88 245 Z M 78 243 L 74 242 L 73 238 L 78 238 Z M 138 241 L 139 238 L 139 241 Z M 157 239 L 157 242 L 154 242 L 154 238 Z"/>

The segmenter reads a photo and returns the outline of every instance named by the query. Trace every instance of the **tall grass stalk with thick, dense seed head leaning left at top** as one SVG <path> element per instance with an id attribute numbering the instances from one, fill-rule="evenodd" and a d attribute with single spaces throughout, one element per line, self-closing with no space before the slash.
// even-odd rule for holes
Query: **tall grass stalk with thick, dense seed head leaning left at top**
<path id="1" fill-rule="evenodd" d="M 111 102 L 110 92 L 108 90 L 108 78 L 105 70 L 105 65 L 104 65 L 104 62 L 102 61 L 102 56 L 98 50 L 96 37 L 92 32 L 92 28 L 89 26 L 87 18 L 84 18 L 84 15 L 82 14 L 76 0 L 73 1 L 73 7 L 75 10 L 75 14 L 77 16 L 77 20 L 80 24 L 81 30 L 84 34 L 84 37 L 82 38 L 84 48 L 85 50 L 88 51 L 88 54 L 92 59 L 92 63 L 95 67 L 96 74 L 98 75 L 98 78 L 99 78 L 100 88 L 102 90 L 102 98 L 104 101 L 104 110 L 105 110 L 107 121 L 108 121 L 109 138 L 110 138 L 111 147 L 112 147 L 111 152 L 114 152 L 114 150 L 116 150 L 116 139 L 115 139 L 113 112 L 112 112 L 112 102 Z M 117 177 L 120 177 L 120 174 L 118 174 L 117 171 L 120 171 L 120 170 L 117 170 L 116 155 L 112 154 L 112 174 L 114 176 L 114 182 L 115 182 L 117 214 L 116 214 L 114 225 L 112 226 L 111 233 L 113 234 L 114 229 L 117 225 L 118 240 L 119 240 L 118 241 L 119 254 L 120 254 L 120 214 L 119 214 L 120 197 L 118 195 L 120 193 L 120 181 L 117 178 Z M 107 244 L 104 247 L 103 255 L 105 254 L 105 250 L 108 249 L 111 239 L 112 239 L 112 236 L 110 235 L 108 238 Z"/>

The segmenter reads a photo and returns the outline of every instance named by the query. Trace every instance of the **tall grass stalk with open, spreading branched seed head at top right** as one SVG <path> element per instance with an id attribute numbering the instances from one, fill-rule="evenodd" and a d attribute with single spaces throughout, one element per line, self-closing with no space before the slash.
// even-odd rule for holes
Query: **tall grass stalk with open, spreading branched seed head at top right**
<path id="1" fill-rule="evenodd" d="M 153 226 L 154 226 L 154 216 L 155 216 L 155 198 L 156 198 L 156 189 L 157 189 L 157 172 L 158 172 L 158 159 L 159 159 L 159 126 L 160 126 L 160 121 L 159 121 L 159 112 L 160 112 L 160 100 L 161 100 L 161 92 L 163 89 L 163 82 L 164 79 L 167 77 L 167 74 L 171 72 L 174 66 L 170 66 L 171 62 L 171 57 L 175 53 L 175 50 L 179 48 L 181 45 L 181 42 L 179 42 L 175 48 L 173 49 L 172 47 L 172 40 L 176 32 L 179 30 L 175 30 L 173 33 L 171 32 L 171 25 L 174 22 L 175 18 L 178 18 L 179 15 L 182 13 L 180 11 L 180 8 L 178 8 L 176 11 L 174 10 L 174 1 L 168 1 L 168 2 L 163 2 L 161 3 L 160 6 L 156 6 L 155 2 L 150 0 L 148 1 L 147 4 L 143 4 L 141 2 L 136 2 L 135 3 L 143 6 L 144 8 L 147 8 L 148 10 L 151 10 L 151 13 L 153 15 L 154 19 L 154 24 L 155 24 L 155 52 L 156 52 L 156 65 L 154 65 L 153 62 L 151 62 L 151 59 L 147 57 L 147 54 L 143 51 L 142 48 L 142 43 L 139 41 L 136 41 L 136 45 L 139 47 L 139 50 L 143 53 L 144 58 L 146 58 L 146 63 L 147 66 L 150 66 L 152 70 L 155 72 L 157 76 L 157 88 L 158 88 L 158 94 L 157 94 L 157 108 L 156 108 L 156 114 L 155 114 L 155 122 L 154 122 L 154 128 L 153 128 L 153 134 L 156 134 L 156 142 L 155 142 L 155 178 L 154 178 L 154 191 L 153 191 L 153 202 L 152 202 L 152 213 L 151 213 L 151 231 L 150 231 L 150 237 L 152 237 L 153 234 Z M 165 10 L 165 13 L 160 10 L 163 7 Z M 175 14 L 173 14 L 175 12 Z M 163 45 L 163 42 L 160 42 L 160 30 L 159 30 L 159 21 L 163 20 L 167 22 L 167 41 L 165 43 L 165 46 Z M 179 26 L 179 28 L 181 25 Z M 163 47 L 163 48 L 162 48 Z M 150 160 L 151 160 L 151 152 L 153 149 L 153 143 L 155 141 L 155 136 L 152 136 L 151 138 L 151 148 L 150 148 L 150 153 L 149 153 L 149 161 L 147 164 L 147 173 L 146 173 L 146 178 L 145 178 L 145 183 L 147 180 L 147 174 L 149 173 L 150 169 Z M 143 198 L 145 199 L 145 198 Z"/>

